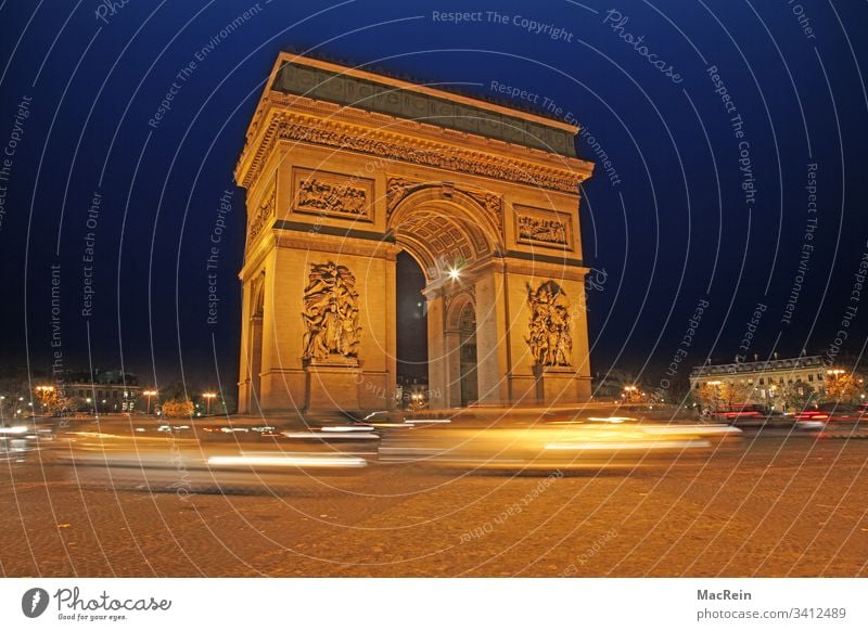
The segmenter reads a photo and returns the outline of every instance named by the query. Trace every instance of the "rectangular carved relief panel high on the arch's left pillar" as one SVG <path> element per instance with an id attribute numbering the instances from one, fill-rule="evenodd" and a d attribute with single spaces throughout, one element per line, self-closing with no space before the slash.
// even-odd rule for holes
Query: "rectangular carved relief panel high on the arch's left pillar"
<path id="1" fill-rule="evenodd" d="M 308 169 L 294 169 L 293 179 L 295 211 L 370 220 L 371 180 Z"/>

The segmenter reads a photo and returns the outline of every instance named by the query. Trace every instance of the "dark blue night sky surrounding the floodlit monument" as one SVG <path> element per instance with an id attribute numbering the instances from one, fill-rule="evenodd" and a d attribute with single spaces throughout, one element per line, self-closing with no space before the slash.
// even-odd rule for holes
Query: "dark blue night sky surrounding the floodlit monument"
<path id="1" fill-rule="evenodd" d="M 750 357 L 864 350 L 865 2 L 110 4 L 0 3 L 4 365 L 46 370 L 59 350 L 64 368 L 231 391 L 232 171 L 281 50 L 510 99 L 496 82 L 584 127 L 578 154 L 598 163 L 580 209 L 595 372 L 659 372 L 679 349 L 681 375 L 731 360 L 752 319 Z M 449 22 L 459 10 L 468 20 Z M 424 344 L 413 273 L 401 266 L 409 359 Z"/>

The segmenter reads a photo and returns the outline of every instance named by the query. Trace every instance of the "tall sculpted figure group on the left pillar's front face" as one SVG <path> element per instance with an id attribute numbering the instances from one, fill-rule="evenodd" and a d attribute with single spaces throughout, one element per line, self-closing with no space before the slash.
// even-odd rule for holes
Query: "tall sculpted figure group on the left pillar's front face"
<path id="1" fill-rule="evenodd" d="M 305 288 L 304 359 L 328 361 L 358 356 L 359 326 L 356 278 L 345 266 L 329 261 L 310 266 Z"/>

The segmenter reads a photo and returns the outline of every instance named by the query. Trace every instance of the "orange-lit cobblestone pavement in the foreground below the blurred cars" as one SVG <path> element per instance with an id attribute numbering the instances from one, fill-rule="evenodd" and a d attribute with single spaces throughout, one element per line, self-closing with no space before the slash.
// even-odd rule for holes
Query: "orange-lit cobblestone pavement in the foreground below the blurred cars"
<path id="1" fill-rule="evenodd" d="M 4 576 L 868 576 L 866 440 L 562 477 L 379 465 L 280 494 L 0 472 Z"/>

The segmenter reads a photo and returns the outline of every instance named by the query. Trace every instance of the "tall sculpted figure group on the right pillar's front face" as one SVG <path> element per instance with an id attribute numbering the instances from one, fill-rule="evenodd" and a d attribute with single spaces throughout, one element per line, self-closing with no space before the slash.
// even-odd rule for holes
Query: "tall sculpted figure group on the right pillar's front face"
<path id="1" fill-rule="evenodd" d="M 571 365 L 573 339 L 566 294 L 554 281 L 546 281 L 536 291 L 528 283 L 527 302 L 531 307 L 527 344 L 537 365 Z"/>

